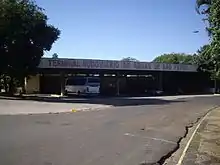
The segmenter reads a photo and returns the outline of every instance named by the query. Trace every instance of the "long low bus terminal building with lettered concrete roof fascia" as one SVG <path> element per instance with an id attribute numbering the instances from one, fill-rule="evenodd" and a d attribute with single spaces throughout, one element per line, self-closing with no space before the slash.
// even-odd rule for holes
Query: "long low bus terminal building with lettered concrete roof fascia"
<path id="1" fill-rule="evenodd" d="M 25 82 L 26 92 L 62 94 L 65 79 L 73 76 L 100 77 L 102 95 L 140 95 L 151 90 L 190 94 L 210 88 L 209 78 L 196 65 L 42 58 L 36 75 Z"/>

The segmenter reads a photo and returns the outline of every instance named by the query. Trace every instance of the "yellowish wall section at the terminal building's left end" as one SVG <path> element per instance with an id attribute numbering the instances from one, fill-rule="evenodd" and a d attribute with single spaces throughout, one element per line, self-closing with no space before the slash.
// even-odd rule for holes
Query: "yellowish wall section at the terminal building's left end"
<path id="1" fill-rule="evenodd" d="M 25 80 L 26 93 L 39 93 L 40 92 L 40 75 L 30 76 Z"/>

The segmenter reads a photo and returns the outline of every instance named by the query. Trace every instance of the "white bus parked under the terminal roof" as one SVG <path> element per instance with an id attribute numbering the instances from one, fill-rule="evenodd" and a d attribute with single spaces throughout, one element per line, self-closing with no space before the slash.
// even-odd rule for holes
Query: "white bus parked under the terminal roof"
<path id="1" fill-rule="evenodd" d="M 66 79 L 66 94 L 89 95 L 100 93 L 100 78 L 98 77 L 71 77 Z"/>

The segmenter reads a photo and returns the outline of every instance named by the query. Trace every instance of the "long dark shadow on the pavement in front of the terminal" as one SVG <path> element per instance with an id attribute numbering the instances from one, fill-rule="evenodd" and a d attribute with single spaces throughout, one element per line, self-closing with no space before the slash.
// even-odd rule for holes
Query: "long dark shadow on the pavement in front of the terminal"
<path id="1" fill-rule="evenodd" d="M 160 98 L 135 98 L 135 97 L 115 97 L 115 98 L 53 98 L 53 97 L 38 97 L 38 96 L 28 96 L 28 97 L 0 97 L 6 100 L 25 100 L 25 101 L 39 101 L 39 102 L 49 102 L 49 103 L 77 103 L 77 104 L 102 104 L 102 105 L 112 105 L 112 106 L 135 106 L 135 105 L 163 105 L 170 103 L 185 102 L 183 99 L 176 100 L 164 100 Z"/>

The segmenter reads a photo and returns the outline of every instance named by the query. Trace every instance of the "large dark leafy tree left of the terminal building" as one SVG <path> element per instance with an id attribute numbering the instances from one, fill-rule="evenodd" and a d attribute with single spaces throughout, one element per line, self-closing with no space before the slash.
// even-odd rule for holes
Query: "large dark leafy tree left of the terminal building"
<path id="1" fill-rule="evenodd" d="M 33 73 L 60 31 L 31 0 L 0 0 L 0 74 L 22 81 Z"/>

